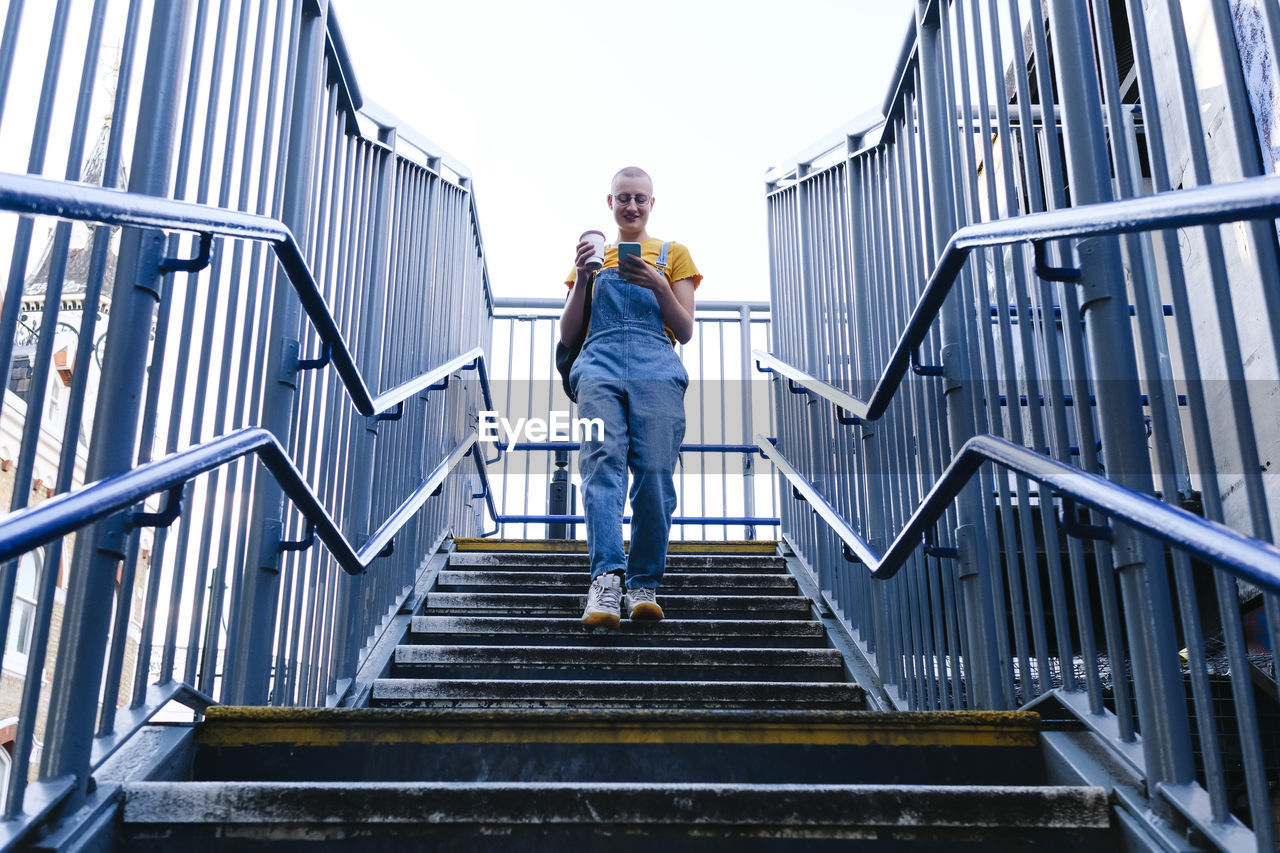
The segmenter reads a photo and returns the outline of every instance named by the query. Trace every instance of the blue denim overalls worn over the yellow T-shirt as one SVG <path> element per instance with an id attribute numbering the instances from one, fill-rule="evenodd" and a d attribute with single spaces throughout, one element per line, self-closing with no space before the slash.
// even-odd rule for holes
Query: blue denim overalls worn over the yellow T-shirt
<path id="1" fill-rule="evenodd" d="M 668 246 L 662 245 L 657 264 L 664 275 Z M 596 273 L 593 288 L 590 328 L 570 371 L 577 416 L 604 421 L 604 441 L 588 430 L 579 456 L 591 578 L 626 569 L 628 589 L 654 589 L 667 567 L 689 373 L 663 330 L 653 291 L 631 284 L 617 269 Z M 625 555 L 628 469 L 631 551 Z"/>

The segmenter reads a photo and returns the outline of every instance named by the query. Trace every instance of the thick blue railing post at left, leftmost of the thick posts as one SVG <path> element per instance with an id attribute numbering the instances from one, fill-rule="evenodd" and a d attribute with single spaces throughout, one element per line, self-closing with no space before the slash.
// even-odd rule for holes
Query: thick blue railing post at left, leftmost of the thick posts
<path id="1" fill-rule="evenodd" d="M 155 8 L 138 101 L 129 192 L 169 193 L 182 72 L 188 60 L 189 12 L 188 0 L 161 3 Z M 128 228 L 120 238 L 111 321 L 84 475 L 90 483 L 133 467 L 151 324 L 164 279 L 160 261 L 165 242 L 156 229 Z M 123 514 L 93 525 L 77 543 L 67 584 L 41 767 L 44 777 L 77 779 L 76 789 L 61 806 L 64 815 L 76 811 L 87 792 L 102 683 L 102 649 L 110 628 L 116 569 L 124 558 L 127 539 Z M 119 606 L 128 607 L 129 602 L 119 602 Z M 106 697 L 106 701 L 115 702 L 115 697 Z"/>

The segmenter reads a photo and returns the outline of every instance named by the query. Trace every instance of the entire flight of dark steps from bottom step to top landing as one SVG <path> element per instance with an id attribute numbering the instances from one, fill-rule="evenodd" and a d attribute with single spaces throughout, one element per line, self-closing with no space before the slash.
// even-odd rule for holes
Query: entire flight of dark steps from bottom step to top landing
<path id="1" fill-rule="evenodd" d="M 861 710 L 773 543 L 682 543 L 621 631 L 577 622 L 568 544 L 453 551 L 369 708 L 211 708 L 188 776 L 123 786 L 123 849 L 1116 847 L 1037 715 Z"/>

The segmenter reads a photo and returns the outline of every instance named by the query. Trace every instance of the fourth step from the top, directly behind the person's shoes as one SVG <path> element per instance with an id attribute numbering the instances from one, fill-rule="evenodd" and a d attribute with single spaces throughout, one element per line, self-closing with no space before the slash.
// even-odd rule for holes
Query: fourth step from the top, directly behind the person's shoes
<path id="1" fill-rule="evenodd" d="M 668 616 L 680 619 L 809 619 L 810 602 L 804 596 L 664 596 L 658 603 Z M 452 593 L 426 594 L 424 611 L 430 613 L 512 613 L 581 616 L 586 589 L 581 593 Z"/>

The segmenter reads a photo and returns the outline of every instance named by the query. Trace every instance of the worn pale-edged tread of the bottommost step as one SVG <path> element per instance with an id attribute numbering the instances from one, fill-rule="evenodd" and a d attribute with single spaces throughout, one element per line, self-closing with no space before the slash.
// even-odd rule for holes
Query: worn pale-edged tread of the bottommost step
<path id="1" fill-rule="evenodd" d="M 125 824 L 648 824 L 1106 829 L 1092 786 L 723 783 L 124 785 Z"/>

